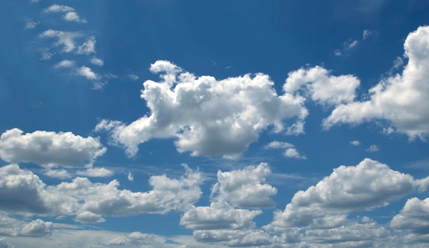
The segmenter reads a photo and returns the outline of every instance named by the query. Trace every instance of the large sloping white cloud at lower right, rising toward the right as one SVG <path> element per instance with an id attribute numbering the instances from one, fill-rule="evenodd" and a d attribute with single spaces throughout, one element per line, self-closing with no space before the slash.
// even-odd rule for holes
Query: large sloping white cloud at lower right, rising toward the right
<path id="1" fill-rule="evenodd" d="M 316 186 L 295 193 L 286 209 L 275 212 L 273 222 L 265 228 L 340 227 L 347 213 L 386 206 L 413 192 L 415 186 L 411 175 L 367 158 L 356 166 L 339 166 Z"/>

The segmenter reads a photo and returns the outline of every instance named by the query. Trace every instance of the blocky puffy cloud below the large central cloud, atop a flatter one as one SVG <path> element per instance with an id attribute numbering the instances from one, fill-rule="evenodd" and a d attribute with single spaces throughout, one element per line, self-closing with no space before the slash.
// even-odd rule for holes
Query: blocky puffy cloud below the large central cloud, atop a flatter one
<path id="1" fill-rule="evenodd" d="M 228 202 L 238 208 L 269 208 L 275 203 L 270 199 L 277 189 L 264 184 L 271 174 L 268 164 L 247 166 L 235 171 L 218 171 L 218 182 L 212 188 L 212 197 L 219 202 Z"/>

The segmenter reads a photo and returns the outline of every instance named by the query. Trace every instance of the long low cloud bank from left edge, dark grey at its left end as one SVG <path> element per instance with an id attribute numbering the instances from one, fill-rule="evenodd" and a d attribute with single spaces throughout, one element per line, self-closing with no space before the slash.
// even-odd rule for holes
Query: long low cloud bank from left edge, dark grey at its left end
<path id="1" fill-rule="evenodd" d="M 164 214 L 190 208 L 200 197 L 201 173 L 186 168 L 179 179 L 154 175 L 148 192 L 119 189 L 119 182 L 93 183 L 86 177 L 46 186 L 31 171 L 11 164 L 0 167 L 0 208 L 11 214 L 76 215 L 75 221 L 95 223 L 102 216 Z"/>

